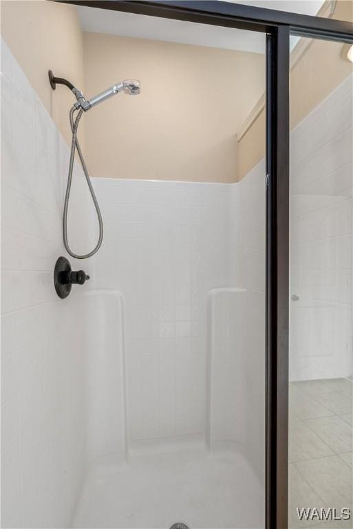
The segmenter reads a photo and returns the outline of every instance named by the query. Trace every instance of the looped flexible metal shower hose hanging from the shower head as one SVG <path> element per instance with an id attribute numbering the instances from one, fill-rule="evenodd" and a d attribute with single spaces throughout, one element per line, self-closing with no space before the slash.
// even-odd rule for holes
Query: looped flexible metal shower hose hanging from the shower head
<path id="1" fill-rule="evenodd" d="M 70 126 L 71 126 L 71 130 L 72 130 L 72 143 L 71 143 L 71 153 L 70 153 L 70 162 L 69 162 L 69 174 L 67 176 L 67 186 L 66 186 L 64 212 L 63 212 L 63 240 L 64 240 L 65 249 L 66 249 L 67 253 L 69 253 L 70 256 L 72 256 L 72 257 L 74 257 L 76 259 L 87 259 L 89 257 L 94 256 L 94 254 L 98 251 L 98 249 L 100 248 L 100 245 L 102 244 L 102 240 L 103 240 L 103 220 L 102 220 L 102 215 L 100 214 L 100 209 L 99 209 L 99 205 L 98 205 L 98 202 L 97 202 L 97 199 L 96 199 L 96 195 L 94 194 L 94 189 L 92 187 L 92 183 L 91 183 L 91 180 L 89 178 L 87 166 L 86 166 L 85 160 L 83 158 L 81 147 L 80 147 L 80 144 L 78 143 L 78 139 L 77 139 L 78 123 L 80 122 L 81 116 L 83 114 L 83 109 L 81 108 L 80 110 L 78 110 L 78 114 L 76 116 L 76 119 L 74 120 L 74 112 L 75 112 L 75 110 L 77 110 L 77 109 L 76 109 L 75 106 L 73 106 L 72 109 L 70 110 L 70 113 L 69 113 Z M 92 251 L 90 251 L 89 253 L 86 253 L 84 256 L 78 256 L 77 253 L 74 253 L 70 249 L 69 242 L 67 241 L 67 209 L 69 207 L 69 196 L 70 196 L 70 190 L 71 190 L 71 184 L 72 184 L 72 171 L 74 169 L 75 149 L 78 152 L 78 157 L 80 158 L 81 165 L 82 165 L 82 168 L 83 168 L 83 172 L 85 173 L 85 178 L 86 178 L 86 181 L 87 181 L 89 192 L 91 193 L 91 196 L 92 196 L 94 207 L 96 208 L 97 217 L 98 217 L 98 223 L 99 223 L 99 237 L 98 237 L 98 242 L 96 244 L 96 247 L 94 247 L 94 249 Z"/>

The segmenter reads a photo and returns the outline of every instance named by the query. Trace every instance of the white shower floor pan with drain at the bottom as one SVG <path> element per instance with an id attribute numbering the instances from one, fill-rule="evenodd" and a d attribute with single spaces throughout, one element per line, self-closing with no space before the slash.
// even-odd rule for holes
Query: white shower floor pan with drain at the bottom
<path id="1" fill-rule="evenodd" d="M 245 457 L 199 448 L 105 457 L 87 476 L 75 528 L 261 528 L 264 491 Z"/>

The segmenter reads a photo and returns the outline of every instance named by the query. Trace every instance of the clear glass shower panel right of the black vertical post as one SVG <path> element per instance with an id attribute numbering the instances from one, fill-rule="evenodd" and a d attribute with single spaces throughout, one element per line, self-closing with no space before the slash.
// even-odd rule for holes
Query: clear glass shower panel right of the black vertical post
<path id="1" fill-rule="evenodd" d="M 353 77 L 348 50 L 339 42 L 301 39 L 291 55 L 292 528 L 320 521 L 352 527 Z"/>

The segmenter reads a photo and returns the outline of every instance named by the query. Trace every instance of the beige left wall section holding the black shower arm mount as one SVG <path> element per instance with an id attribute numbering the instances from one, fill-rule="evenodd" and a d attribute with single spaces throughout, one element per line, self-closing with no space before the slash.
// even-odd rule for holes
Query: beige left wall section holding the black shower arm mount
<path id="1" fill-rule="evenodd" d="M 36 93 L 69 142 L 67 87 L 53 92 L 47 70 L 83 90 L 83 35 L 74 6 L 47 0 L 1 1 L 1 34 Z M 84 142 L 83 134 L 80 135 Z"/>

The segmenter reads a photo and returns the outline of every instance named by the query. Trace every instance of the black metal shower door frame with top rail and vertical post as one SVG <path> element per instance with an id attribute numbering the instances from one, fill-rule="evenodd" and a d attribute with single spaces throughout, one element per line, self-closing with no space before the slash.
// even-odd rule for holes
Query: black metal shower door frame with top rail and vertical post
<path id="1" fill-rule="evenodd" d="M 266 33 L 266 529 L 288 528 L 290 34 L 353 42 L 353 24 L 223 1 L 54 0 Z M 242 0 L 239 0 L 242 1 Z"/>

